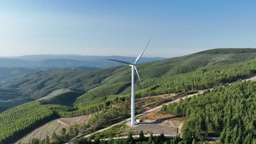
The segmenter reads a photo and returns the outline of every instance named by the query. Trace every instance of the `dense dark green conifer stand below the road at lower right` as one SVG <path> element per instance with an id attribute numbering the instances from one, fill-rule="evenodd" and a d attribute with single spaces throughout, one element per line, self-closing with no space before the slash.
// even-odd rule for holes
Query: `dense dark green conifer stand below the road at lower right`
<path id="1" fill-rule="evenodd" d="M 220 136 L 219 143 L 253 143 L 256 128 L 256 82 L 237 81 L 212 92 L 162 107 L 165 113 L 188 117 L 185 143 Z M 254 140 L 254 142 L 256 142 Z"/>

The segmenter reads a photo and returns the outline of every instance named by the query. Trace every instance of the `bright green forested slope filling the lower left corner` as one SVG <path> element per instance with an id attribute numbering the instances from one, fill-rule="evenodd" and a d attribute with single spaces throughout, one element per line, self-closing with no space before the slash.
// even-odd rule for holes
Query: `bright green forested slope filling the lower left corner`
<path id="1" fill-rule="evenodd" d="M 59 117 L 57 112 L 71 111 L 72 107 L 61 105 L 42 105 L 30 102 L 0 114 L 0 143 L 18 140 L 34 128 Z"/>

